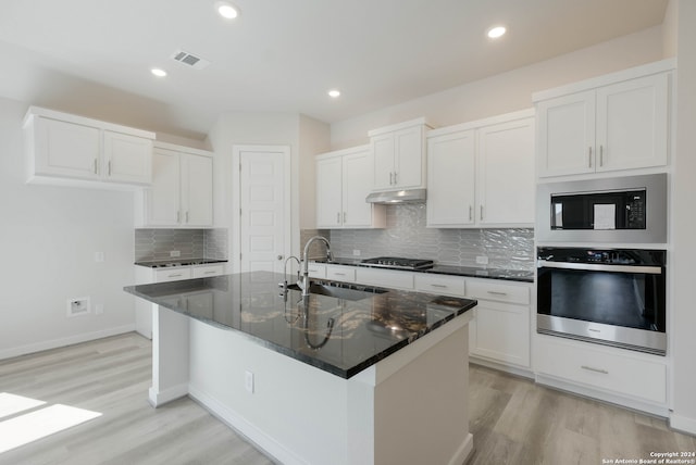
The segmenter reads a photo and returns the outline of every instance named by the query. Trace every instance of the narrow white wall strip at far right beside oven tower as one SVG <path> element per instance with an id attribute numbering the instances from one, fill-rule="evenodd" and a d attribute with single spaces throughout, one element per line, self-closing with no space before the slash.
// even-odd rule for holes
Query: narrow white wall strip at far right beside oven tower
<path id="1" fill-rule="evenodd" d="M 672 0 L 674 3 L 675 0 Z M 696 2 L 678 4 L 676 155 L 672 177 L 673 414 L 672 427 L 696 435 Z"/>

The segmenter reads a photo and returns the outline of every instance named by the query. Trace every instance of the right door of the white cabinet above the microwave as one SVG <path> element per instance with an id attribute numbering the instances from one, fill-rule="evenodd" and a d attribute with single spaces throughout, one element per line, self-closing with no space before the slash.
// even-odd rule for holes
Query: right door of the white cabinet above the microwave
<path id="1" fill-rule="evenodd" d="M 597 90 L 597 171 L 667 164 L 668 78 L 659 74 Z"/>

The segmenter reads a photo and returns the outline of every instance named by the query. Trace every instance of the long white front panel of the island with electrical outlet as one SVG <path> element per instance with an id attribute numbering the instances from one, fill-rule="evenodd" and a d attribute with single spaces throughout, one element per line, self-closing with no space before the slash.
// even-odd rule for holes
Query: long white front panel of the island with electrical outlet
<path id="1" fill-rule="evenodd" d="M 345 379 L 238 331 L 191 321 L 190 337 L 190 397 L 283 464 L 347 464 Z"/>

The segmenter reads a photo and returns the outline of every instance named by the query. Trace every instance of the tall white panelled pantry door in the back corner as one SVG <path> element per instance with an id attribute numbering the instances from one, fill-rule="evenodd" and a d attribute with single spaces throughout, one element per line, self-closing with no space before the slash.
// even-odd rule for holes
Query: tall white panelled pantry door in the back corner
<path id="1" fill-rule="evenodd" d="M 238 155 L 240 271 L 283 273 L 289 252 L 289 148 L 244 147 Z"/>

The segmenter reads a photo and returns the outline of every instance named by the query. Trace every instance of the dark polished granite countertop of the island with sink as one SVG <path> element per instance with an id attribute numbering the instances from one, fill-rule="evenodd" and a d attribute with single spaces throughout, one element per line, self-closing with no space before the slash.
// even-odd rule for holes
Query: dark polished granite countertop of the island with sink
<path id="1" fill-rule="evenodd" d="M 276 352 L 343 378 L 476 305 L 470 299 L 357 286 L 353 291 L 370 293 L 360 294 L 361 300 L 321 294 L 302 299 L 299 290 L 283 296 L 278 288 L 283 280 L 281 274 L 254 272 L 124 290 L 210 325 L 240 331 Z"/>

